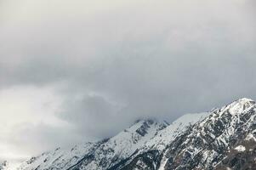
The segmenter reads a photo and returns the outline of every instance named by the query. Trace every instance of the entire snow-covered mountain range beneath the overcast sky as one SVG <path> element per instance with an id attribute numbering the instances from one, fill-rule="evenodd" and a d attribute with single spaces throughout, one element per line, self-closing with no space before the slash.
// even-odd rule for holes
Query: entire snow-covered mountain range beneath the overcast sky
<path id="1" fill-rule="evenodd" d="M 255 160 L 256 105 L 244 98 L 171 124 L 141 120 L 110 139 L 32 157 L 17 170 L 240 170 L 256 169 Z"/>

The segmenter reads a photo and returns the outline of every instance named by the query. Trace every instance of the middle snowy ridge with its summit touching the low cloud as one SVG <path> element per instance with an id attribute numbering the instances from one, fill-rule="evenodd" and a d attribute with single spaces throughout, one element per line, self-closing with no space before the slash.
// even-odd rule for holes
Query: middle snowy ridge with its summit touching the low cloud
<path id="1" fill-rule="evenodd" d="M 153 120 L 139 121 L 134 126 L 118 133 L 117 136 L 108 139 L 94 151 L 94 159 L 84 159 L 71 169 L 105 169 L 111 167 L 145 144 L 156 133 L 167 127 L 166 122 Z"/>

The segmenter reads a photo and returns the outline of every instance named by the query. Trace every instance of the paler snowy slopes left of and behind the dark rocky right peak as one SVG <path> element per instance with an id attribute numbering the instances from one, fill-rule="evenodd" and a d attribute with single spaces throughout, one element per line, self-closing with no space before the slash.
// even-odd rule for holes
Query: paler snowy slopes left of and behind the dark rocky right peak
<path id="1" fill-rule="evenodd" d="M 57 148 L 41 156 L 32 157 L 22 163 L 18 170 L 107 169 L 139 150 L 144 152 L 154 147 L 163 149 L 168 142 L 182 133 L 185 127 L 207 115 L 208 113 L 185 115 L 171 125 L 156 120 L 138 121 L 111 139 L 76 145 L 71 149 Z"/>

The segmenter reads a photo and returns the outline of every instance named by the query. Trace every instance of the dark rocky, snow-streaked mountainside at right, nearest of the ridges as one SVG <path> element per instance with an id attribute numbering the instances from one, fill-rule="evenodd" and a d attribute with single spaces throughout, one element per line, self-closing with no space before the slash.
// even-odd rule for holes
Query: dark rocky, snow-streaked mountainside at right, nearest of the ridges
<path id="1" fill-rule="evenodd" d="M 234 157 L 237 145 L 247 144 L 246 150 L 254 151 L 255 102 L 239 99 L 230 105 L 214 110 L 204 120 L 187 128 L 163 150 L 149 150 L 134 157 L 117 169 L 242 169 L 242 159 Z M 244 146 L 242 145 L 242 148 Z M 155 153 L 152 156 L 152 151 Z M 239 150 L 238 152 L 242 152 Z M 237 153 L 237 152 L 235 152 Z M 231 157 L 233 156 L 233 157 Z M 242 156 L 240 153 L 239 156 Z M 145 159 L 151 157 L 151 159 Z M 240 161 L 239 161 L 240 160 Z M 152 165 L 156 165 L 152 167 Z M 253 166 L 250 164 L 250 166 Z M 253 168 L 251 168 L 253 169 Z"/>

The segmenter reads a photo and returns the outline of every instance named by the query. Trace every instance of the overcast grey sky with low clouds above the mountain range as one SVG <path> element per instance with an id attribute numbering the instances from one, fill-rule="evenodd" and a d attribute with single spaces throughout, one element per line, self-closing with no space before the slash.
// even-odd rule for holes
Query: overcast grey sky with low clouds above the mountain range
<path id="1" fill-rule="evenodd" d="M 253 0 L 0 0 L 0 160 L 256 99 Z"/>

